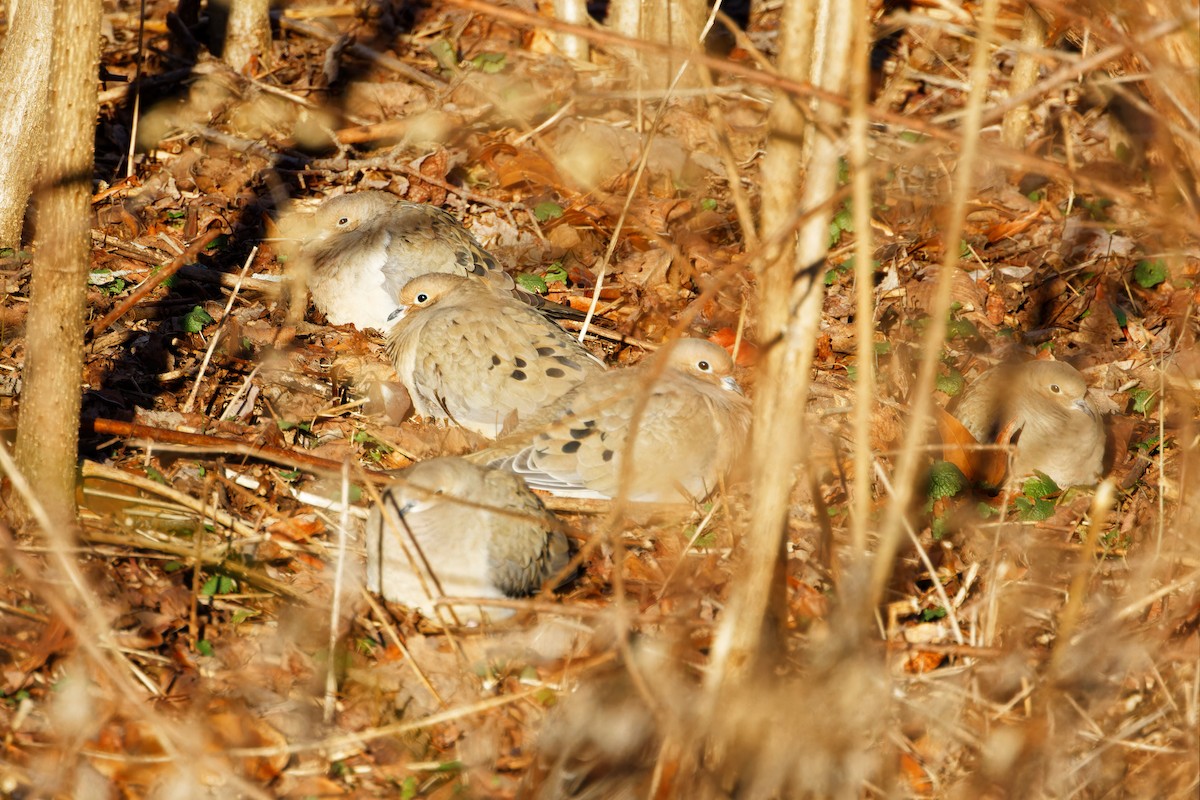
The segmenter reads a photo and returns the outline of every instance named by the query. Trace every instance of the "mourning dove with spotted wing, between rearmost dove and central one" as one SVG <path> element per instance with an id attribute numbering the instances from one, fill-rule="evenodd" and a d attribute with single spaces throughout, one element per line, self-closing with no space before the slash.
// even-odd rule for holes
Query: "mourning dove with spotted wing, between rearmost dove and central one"
<path id="1" fill-rule="evenodd" d="M 494 439 L 604 365 L 487 281 L 425 275 L 400 293 L 388 355 L 418 414 Z"/>

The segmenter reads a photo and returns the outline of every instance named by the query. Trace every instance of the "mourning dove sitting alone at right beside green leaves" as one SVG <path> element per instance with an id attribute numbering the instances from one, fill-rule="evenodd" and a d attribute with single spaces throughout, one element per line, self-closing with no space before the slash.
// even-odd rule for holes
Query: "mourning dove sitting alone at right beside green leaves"
<path id="1" fill-rule="evenodd" d="M 1069 363 L 994 367 L 971 384 L 954 416 L 984 444 L 1010 433 L 1016 441 L 1014 476 L 1037 470 L 1062 488 L 1100 477 L 1104 422 L 1087 397 L 1084 375 Z"/>

